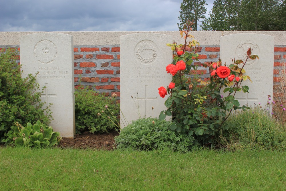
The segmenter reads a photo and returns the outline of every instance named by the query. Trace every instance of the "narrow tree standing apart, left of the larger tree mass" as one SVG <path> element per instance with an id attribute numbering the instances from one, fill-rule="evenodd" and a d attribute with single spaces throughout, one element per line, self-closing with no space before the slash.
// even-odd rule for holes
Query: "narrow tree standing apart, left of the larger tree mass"
<path id="1" fill-rule="evenodd" d="M 180 31 L 183 30 L 184 23 L 186 21 L 192 21 L 194 20 L 195 24 L 192 28 L 192 30 L 197 30 L 198 27 L 198 21 L 200 19 L 205 19 L 206 16 L 206 1 L 205 0 L 183 0 L 181 3 L 181 11 L 180 16 L 178 17 L 180 20 L 180 23 L 177 23 Z"/>

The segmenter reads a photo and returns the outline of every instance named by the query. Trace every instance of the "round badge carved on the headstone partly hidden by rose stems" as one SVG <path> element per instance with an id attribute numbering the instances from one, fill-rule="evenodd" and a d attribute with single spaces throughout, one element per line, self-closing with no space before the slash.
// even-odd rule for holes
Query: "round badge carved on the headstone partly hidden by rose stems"
<path id="1" fill-rule="evenodd" d="M 247 57 L 247 50 L 251 48 L 251 54 L 256 54 L 259 56 L 259 47 L 258 45 L 255 43 L 255 42 L 252 42 L 252 41 L 243 41 L 242 43 L 240 43 L 237 48 L 236 48 L 236 59 L 238 60 L 243 60 L 245 61 L 246 57 Z M 258 59 L 255 59 L 255 60 L 251 60 L 251 59 L 248 59 L 247 62 L 246 62 L 246 65 L 251 65 L 251 64 L 254 64 L 255 62 L 257 62 Z"/>

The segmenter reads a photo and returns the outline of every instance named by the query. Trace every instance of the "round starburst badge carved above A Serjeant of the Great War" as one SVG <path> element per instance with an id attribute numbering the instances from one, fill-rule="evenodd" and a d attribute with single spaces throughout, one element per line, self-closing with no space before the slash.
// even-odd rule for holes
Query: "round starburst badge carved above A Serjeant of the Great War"
<path id="1" fill-rule="evenodd" d="M 50 40 L 41 40 L 35 45 L 34 56 L 40 63 L 49 64 L 57 58 L 57 47 Z"/>

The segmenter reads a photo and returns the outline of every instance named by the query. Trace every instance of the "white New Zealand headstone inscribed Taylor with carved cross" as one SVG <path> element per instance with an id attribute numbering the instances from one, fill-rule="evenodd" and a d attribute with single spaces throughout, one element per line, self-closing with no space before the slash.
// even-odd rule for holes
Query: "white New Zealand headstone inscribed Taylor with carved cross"
<path id="1" fill-rule="evenodd" d="M 171 42 L 172 36 L 155 33 L 120 37 L 120 109 L 129 123 L 139 119 L 138 105 L 141 118 L 152 117 L 152 107 L 157 118 L 166 110 L 167 96 L 160 97 L 158 88 L 172 81 L 172 75 L 166 72 L 172 62 L 172 51 L 166 44 Z M 124 120 L 122 128 L 123 124 Z"/>

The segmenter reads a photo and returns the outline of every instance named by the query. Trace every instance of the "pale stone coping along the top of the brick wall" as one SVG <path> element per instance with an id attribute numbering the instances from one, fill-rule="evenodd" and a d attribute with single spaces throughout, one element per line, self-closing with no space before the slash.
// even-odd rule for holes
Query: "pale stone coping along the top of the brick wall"
<path id="1" fill-rule="evenodd" d="M 56 33 L 69 34 L 74 36 L 74 46 L 81 45 L 118 45 L 120 36 L 132 33 L 159 33 L 173 36 L 178 44 L 184 40 L 179 31 L 53 31 Z M 19 36 L 40 33 L 40 32 L 0 32 L 0 45 L 18 45 Z M 201 45 L 218 45 L 221 36 L 237 33 L 257 33 L 274 36 L 275 45 L 286 45 L 286 31 L 191 31 Z"/>

